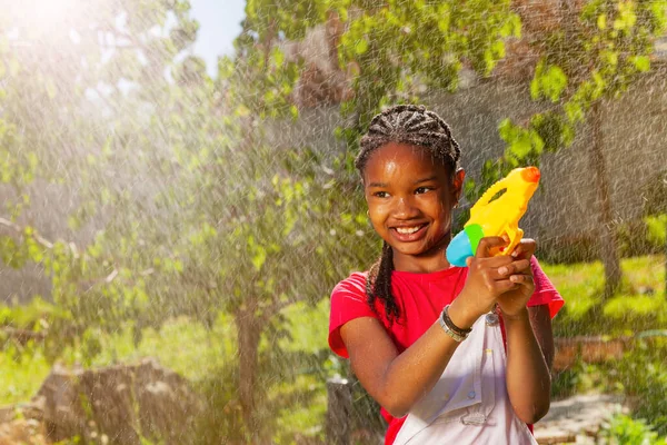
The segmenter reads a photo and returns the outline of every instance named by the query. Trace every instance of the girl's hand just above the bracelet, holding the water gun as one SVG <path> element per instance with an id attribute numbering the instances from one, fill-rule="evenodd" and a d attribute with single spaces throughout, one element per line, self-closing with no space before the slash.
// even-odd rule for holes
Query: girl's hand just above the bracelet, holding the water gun
<path id="1" fill-rule="evenodd" d="M 515 270 L 521 274 L 529 263 L 522 258 L 515 261 L 509 255 L 491 256 L 491 251 L 508 244 L 507 238 L 485 237 L 479 241 L 475 256 L 467 259 L 466 285 L 449 308 L 449 317 L 458 327 L 471 326 L 477 318 L 491 310 L 501 295 L 520 286 L 517 278 L 511 277 L 516 275 Z M 514 299 L 511 298 L 512 301 Z"/>

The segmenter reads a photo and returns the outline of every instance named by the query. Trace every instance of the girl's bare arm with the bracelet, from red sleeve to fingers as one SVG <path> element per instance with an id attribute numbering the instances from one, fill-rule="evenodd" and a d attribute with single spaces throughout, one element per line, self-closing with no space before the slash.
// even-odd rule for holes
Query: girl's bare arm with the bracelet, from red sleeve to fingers
<path id="1" fill-rule="evenodd" d="M 517 284 L 498 268 L 511 270 L 529 267 L 527 259 L 509 256 L 488 257 L 490 248 L 507 245 L 499 238 L 484 238 L 461 294 L 451 303 L 449 317 L 455 325 L 468 328 L 494 305 L 498 295 Z M 398 354 L 384 326 L 372 317 L 352 319 L 340 328 L 340 336 L 357 378 L 385 409 L 395 417 L 406 415 L 412 405 L 436 385 L 449 364 L 458 343 L 435 323 L 417 342 Z"/>

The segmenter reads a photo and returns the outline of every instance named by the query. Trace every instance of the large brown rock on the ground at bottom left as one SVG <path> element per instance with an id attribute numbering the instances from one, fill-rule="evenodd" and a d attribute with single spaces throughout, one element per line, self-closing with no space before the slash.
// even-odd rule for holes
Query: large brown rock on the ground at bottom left
<path id="1" fill-rule="evenodd" d="M 98 369 L 54 366 L 30 405 L 51 441 L 106 435 L 119 445 L 140 445 L 141 436 L 187 445 L 202 409 L 188 382 L 153 359 Z"/>

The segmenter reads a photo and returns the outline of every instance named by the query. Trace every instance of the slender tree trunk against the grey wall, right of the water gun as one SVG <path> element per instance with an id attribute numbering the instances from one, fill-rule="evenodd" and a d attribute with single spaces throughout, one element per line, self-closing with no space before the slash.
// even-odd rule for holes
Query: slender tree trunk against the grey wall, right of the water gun
<path id="1" fill-rule="evenodd" d="M 618 236 L 611 214 L 611 200 L 609 198 L 609 179 L 605 166 L 601 115 L 600 101 L 598 100 L 590 108 L 589 122 L 593 135 L 593 140 L 590 141 L 590 167 L 594 172 L 596 196 L 599 205 L 599 246 L 600 257 L 605 266 L 604 299 L 607 299 L 620 287 L 621 270 L 618 255 Z"/>

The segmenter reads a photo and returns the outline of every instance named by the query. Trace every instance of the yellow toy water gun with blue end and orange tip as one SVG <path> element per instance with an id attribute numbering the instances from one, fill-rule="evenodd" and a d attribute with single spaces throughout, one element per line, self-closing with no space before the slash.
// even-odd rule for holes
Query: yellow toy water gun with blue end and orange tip
<path id="1" fill-rule="evenodd" d="M 524 237 L 519 219 L 539 182 L 537 167 L 515 168 L 494 184 L 470 209 L 470 219 L 447 247 L 447 260 L 465 267 L 466 259 L 477 251 L 479 240 L 489 236 L 507 235 L 509 246 L 491 255 L 509 255 Z M 498 196 L 498 194 L 502 192 Z"/>

